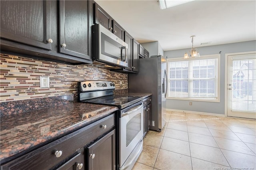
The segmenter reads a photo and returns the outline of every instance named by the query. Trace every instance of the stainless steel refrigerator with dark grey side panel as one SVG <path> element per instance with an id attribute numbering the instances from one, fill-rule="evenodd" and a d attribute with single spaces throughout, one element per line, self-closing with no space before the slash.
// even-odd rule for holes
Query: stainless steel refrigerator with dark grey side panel
<path id="1" fill-rule="evenodd" d="M 161 131 L 166 123 L 166 58 L 154 55 L 139 59 L 139 73 L 128 75 L 128 89 L 133 93 L 152 93 L 150 129 Z"/>

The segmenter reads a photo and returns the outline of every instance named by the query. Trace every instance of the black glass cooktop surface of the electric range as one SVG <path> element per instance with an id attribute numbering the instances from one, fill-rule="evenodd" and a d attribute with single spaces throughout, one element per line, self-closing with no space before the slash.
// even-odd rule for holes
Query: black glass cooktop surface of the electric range
<path id="1" fill-rule="evenodd" d="M 143 97 L 132 97 L 132 96 L 108 96 L 99 99 L 84 100 L 82 102 L 100 104 L 100 105 L 111 105 L 116 106 L 119 109 L 124 109 L 134 103 L 142 101 Z"/>

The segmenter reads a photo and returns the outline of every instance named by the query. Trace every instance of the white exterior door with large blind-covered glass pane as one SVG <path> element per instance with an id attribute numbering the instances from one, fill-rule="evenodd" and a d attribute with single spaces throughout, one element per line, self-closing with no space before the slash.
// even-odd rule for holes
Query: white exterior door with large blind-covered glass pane
<path id="1" fill-rule="evenodd" d="M 228 116 L 256 119 L 256 53 L 228 55 Z"/>

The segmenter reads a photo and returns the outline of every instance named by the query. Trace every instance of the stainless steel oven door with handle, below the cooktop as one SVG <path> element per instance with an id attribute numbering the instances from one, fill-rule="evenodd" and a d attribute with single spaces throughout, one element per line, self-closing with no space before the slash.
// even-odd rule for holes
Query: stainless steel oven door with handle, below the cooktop
<path id="1" fill-rule="evenodd" d="M 143 103 L 122 110 L 119 126 L 119 164 L 120 167 L 122 167 L 136 145 L 142 141 L 143 138 Z M 138 156 L 133 157 L 138 158 Z M 126 164 L 129 164 L 129 162 L 126 162 Z"/>

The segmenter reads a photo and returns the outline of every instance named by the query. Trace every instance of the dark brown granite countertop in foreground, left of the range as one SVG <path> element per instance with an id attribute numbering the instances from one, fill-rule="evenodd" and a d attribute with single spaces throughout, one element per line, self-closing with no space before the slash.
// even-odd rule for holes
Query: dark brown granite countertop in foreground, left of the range
<path id="1" fill-rule="evenodd" d="M 0 117 L 0 160 L 98 121 L 117 107 L 70 103 Z M 47 132 L 49 131 L 49 132 Z M 44 133 L 44 134 L 42 134 Z"/>

